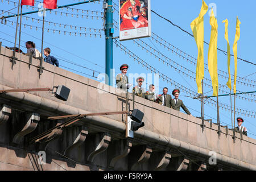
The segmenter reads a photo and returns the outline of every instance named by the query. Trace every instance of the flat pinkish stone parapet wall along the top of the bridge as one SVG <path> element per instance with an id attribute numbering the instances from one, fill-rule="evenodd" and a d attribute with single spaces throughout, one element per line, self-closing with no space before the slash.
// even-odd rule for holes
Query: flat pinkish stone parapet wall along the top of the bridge
<path id="1" fill-rule="evenodd" d="M 30 94 L 77 107 L 90 113 L 125 110 L 125 94 L 118 93 L 116 88 L 103 84 L 99 92 L 100 82 L 76 75 L 48 63 L 43 63 L 44 70 L 39 78 L 39 60 L 33 58 L 32 65 L 29 67 L 29 57 L 16 53 L 18 61 L 11 69 L 10 56 L 13 55 L 13 52 L 2 47 L 1 54 L 5 56 L 0 55 L 0 89 L 3 89 L 3 86 L 16 89 L 52 88 L 57 85 L 65 85 L 71 89 L 67 102 L 58 100 L 49 92 L 30 92 Z M 129 98 L 132 98 L 131 94 Z M 133 109 L 132 106 L 133 104 L 130 101 L 130 109 Z M 26 108 L 22 109 L 26 110 Z M 234 143 L 232 139 L 233 131 L 228 130 L 228 135 L 226 135 L 226 130 L 223 127 L 221 127 L 222 133 L 219 138 L 217 134 L 218 126 L 213 124 L 210 127 L 209 122 L 205 122 L 206 127 L 202 132 L 200 119 L 137 96 L 135 96 L 135 109 L 144 113 L 143 122 L 145 126 L 143 129 L 145 130 L 256 165 L 255 139 L 243 135 L 243 139 L 240 140 L 240 134 L 236 133 L 237 139 Z M 35 111 L 39 112 L 40 110 L 42 108 L 38 107 L 38 110 Z M 56 112 L 56 115 L 59 114 Z M 119 122 L 123 122 L 124 119 L 124 115 L 108 115 L 106 117 Z"/>

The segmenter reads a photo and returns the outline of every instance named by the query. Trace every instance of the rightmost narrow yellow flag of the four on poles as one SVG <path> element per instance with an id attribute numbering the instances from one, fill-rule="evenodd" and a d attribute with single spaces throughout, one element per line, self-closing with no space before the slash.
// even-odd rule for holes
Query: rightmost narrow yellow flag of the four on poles
<path id="1" fill-rule="evenodd" d="M 236 36 L 233 44 L 233 52 L 234 52 L 234 93 L 237 92 L 236 84 L 237 84 L 237 42 L 240 39 L 240 20 L 237 16 L 237 27 L 236 27 Z"/>

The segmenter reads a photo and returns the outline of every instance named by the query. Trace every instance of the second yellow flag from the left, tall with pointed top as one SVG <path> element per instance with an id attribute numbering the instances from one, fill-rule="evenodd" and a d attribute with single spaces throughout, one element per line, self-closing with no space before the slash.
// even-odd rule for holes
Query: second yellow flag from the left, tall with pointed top
<path id="1" fill-rule="evenodd" d="M 213 96 L 217 96 L 218 92 L 218 72 L 217 72 L 217 39 L 218 39 L 218 23 L 214 17 L 213 10 L 210 13 L 210 43 L 208 51 L 208 69 L 210 78 L 212 78 Z"/>

